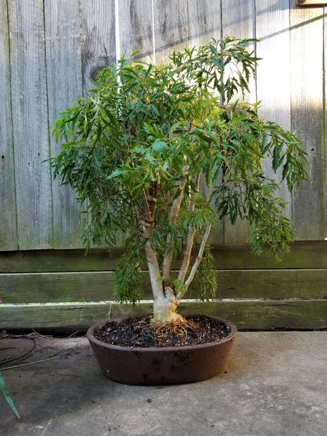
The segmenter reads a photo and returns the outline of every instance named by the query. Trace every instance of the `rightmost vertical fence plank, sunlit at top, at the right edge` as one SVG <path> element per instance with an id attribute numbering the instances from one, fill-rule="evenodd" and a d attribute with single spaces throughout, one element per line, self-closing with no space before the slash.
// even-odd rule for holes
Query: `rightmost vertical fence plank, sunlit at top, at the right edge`
<path id="1" fill-rule="evenodd" d="M 323 9 L 299 9 L 290 2 L 292 130 L 310 153 L 310 183 L 293 195 L 293 221 L 298 239 L 325 239 Z"/>

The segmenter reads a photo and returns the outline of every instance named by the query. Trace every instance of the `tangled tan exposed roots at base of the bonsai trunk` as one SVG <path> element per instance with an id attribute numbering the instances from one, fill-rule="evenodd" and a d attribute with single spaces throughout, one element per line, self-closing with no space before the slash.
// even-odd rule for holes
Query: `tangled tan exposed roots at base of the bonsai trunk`
<path id="1" fill-rule="evenodd" d="M 197 330 L 198 324 L 192 319 L 185 319 L 183 317 L 176 319 L 172 322 L 148 322 L 142 320 L 137 323 L 137 328 L 140 328 L 150 336 L 155 336 L 157 339 L 166 339 L 170 335 L 175 335 L 179 338 L 186 339 L 188 331 Z"/>

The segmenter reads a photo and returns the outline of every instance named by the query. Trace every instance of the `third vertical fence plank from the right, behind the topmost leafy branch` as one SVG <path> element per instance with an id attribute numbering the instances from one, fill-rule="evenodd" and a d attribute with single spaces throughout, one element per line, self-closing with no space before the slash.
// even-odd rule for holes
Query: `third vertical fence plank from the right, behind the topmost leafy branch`
<path id="1" fill-rule="evenodd" d="M 222 0 L 221 17 L 223 36 L 236 37 L 239 39 L 255 37 L 255 3 L 254 0 Z M 249 46 L 249 50 L 254 50 Z M 237 98 L 242 98 L 239 95 Z M 245 99 L 254 102 L 256 100 L 255 80 L 250 82 L 250 95 Z M 229 219 L 224 222 L 224 241 L 226 244 L 248 242 L 251 229 L 248 222 L 237 219 L 235 225 L 230 224 Z"/>

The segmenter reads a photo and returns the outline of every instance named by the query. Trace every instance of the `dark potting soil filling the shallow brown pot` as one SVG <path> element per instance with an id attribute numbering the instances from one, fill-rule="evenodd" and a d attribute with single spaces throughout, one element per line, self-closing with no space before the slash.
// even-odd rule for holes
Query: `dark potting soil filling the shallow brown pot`
<path id="1" fill-rule="evenodd" d="M 95 330 L 95 337 L 107 344 L 126 347 L 168 347 L 206 344 L 228 336 L 226 324 L 206 315 L 186 315 L 185 323 L 150 325 L 151 316 L 108 321 Z"/>

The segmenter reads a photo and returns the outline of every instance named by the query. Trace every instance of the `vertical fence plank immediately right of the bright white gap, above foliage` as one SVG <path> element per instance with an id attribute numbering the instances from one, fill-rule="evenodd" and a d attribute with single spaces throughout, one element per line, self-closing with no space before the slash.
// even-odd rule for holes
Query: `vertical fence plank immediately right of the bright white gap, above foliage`
<path id="1" fill-rule="evenodd" d="M 152 0 L 119 1 L 118 17 L 121 56 L 139 50 L 136 59 L 154 62 Z"/>

